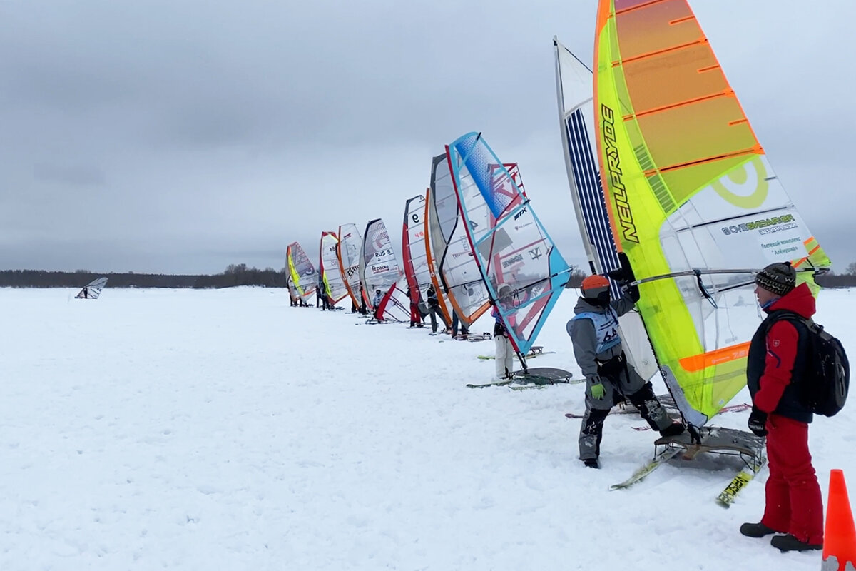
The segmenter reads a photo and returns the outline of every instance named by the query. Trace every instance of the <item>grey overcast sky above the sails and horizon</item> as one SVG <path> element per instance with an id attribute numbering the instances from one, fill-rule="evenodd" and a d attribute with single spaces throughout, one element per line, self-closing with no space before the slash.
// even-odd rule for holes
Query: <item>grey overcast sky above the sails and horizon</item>
<path id="1" fill-rule="evenodd" d="M 853 0 L 691 0 L 770 162 L 856 261 Z M 552 38 L 591 62 L 595 0 L 0 0 L 0 269 L 282 268 L 382 217 L 481 131 L 584 258 Z"/>

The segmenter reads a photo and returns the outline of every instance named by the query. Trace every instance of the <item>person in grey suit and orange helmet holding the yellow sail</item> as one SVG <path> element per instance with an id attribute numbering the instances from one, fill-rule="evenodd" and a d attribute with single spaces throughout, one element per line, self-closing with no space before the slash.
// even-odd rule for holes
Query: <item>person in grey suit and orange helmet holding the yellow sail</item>
<path id="1" fill-rule="evenodd" d="M 611 275 L 611 274 L 610 274 Z M 618 318 L 629 312 L 639 300 L 639 287 L 629 287 L 621 298 L 610 300 L 609 280 L 589 276 L 582 283 L 582 297 L 568 321 L 568 335 L 574 343 L 574 357 L 586 377 L 586 413 L 580 426 L 580 460 L 587 467 L 599 468 L 603 421 L 616 402 L 627 398 L 639 414 L 662 436 L 684 431 L 673 422 L 651 388 L 651 383 L 627 363 L 621 348 Z"/>

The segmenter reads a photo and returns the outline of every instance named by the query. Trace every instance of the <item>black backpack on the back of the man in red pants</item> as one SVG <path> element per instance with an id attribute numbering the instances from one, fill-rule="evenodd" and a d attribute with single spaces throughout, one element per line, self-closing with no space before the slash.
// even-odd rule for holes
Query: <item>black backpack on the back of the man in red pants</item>
<path id="1" fill-rule="evenodd" d="M 800 323 L 808 330 L 808 358 L 805 378 L 800 387 L 800 401 L 812 413 L 835 416 L 847 401 L 850 386 L 850 364 L 841 342 L 816 324 L 794 312 L 782 311 L 770 325 L 780 319 Z M 769 331 L 769 329 L 768 329 Z"/>

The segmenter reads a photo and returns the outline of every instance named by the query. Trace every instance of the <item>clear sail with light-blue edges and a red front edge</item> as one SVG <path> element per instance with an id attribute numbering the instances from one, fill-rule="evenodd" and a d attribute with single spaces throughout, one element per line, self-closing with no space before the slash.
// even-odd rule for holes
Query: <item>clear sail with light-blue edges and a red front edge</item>
<path id="1" fill-rule="evenodd" d="M 568 283 L 570 267 L 481 134 L 460 137 L 446 152 L 474 258 L 526 366 L 523 354 Z"/>

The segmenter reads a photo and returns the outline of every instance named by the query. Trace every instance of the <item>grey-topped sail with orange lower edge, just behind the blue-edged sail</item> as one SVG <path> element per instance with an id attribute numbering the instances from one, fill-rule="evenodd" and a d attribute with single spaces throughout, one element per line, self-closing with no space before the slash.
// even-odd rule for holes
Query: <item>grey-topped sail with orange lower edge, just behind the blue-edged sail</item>
<path id="1" fill-rule="evenodd" d="M 467 191 L 479 192 L 473 187 Z M 490 307 L 490 294 L 473 257 L 446 154 L 435 157 L 431 165 L 431 224 L 431 243 L 442 283 L 437 292 L 442 291 L 452 306 L 451 310 L 446 308 L 445 317 L 449 319 L 455 311 L 464 324 L 473 324 Z"/>

